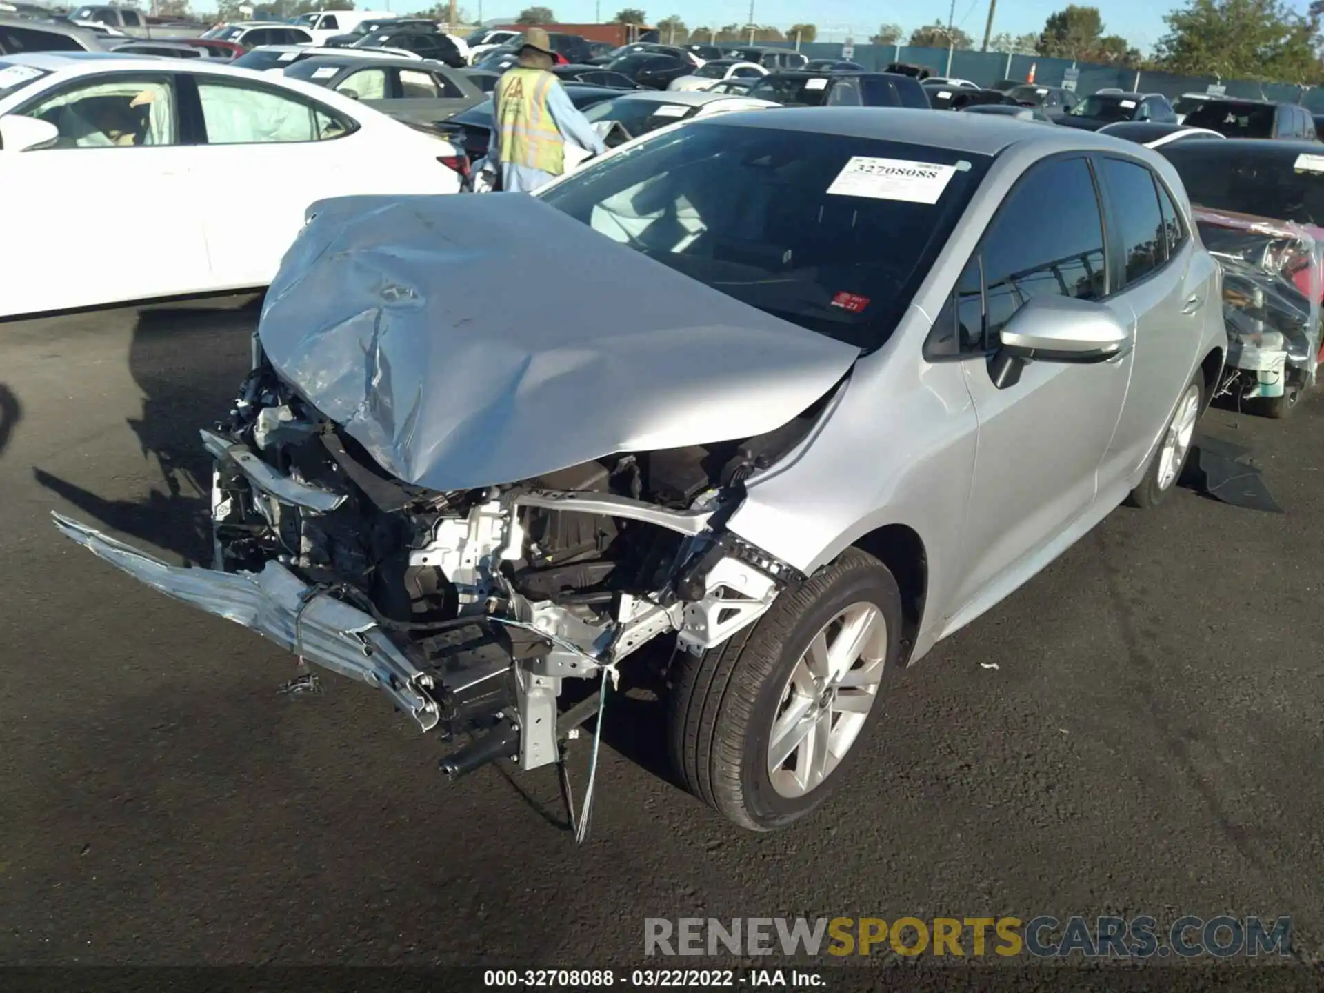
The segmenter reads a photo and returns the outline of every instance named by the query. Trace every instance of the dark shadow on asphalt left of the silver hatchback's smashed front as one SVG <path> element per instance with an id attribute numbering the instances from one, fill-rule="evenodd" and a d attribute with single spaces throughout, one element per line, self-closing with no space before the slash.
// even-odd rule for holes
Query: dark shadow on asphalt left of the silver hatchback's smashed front
<path id="1" fill-rule="evenodd" d="M 162 485 L 147 499 L 107 499 L 42 469 L 33 469 L 36 481 L 122 535 L 209 564 L 212 470 L 199 429 L 224 417 L 249 371 L 261 302 L 139 311 L 128 371 L 143 393 L 143 409 L 127 422 L 143 457 L 160 471 Z"/>

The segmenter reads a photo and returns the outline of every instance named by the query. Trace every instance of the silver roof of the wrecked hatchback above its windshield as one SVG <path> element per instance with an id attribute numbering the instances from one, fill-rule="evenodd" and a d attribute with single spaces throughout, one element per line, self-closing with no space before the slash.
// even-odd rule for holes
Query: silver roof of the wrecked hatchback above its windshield
<path id="1" fill-rule="evenodd" d="M 1025 127 L 1023 120 L 1000 114 L 963 115 L 911 107 L 785 107 L 767 115 L 761 111 L 748 115 L 722 114 L 720 120 L 806 134 L 880 138 L 970 155 L 997 155 L 1012 146 L 1034 146 L 1038 155 L 1078 150 L 1106 151 L 1121 146 L 1119 138 L 1074 127 L 1030 128 Z"/>

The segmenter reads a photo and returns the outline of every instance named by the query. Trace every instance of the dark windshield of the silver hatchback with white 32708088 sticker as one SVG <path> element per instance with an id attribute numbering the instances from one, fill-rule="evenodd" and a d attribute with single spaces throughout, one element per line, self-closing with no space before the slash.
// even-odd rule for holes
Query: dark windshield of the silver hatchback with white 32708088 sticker
<path id="1" fill-rule="evenodd" d="M 539 196 L 720 293 L 873 350 L 895 328 L 989 159 L 813 139 L 740 124 L 682 127 Z"/>

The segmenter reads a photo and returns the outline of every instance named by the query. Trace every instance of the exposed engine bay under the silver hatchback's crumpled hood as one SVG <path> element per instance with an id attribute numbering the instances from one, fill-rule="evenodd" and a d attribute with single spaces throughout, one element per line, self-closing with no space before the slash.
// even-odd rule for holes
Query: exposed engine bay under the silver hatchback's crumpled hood
<path id="1" fill-rule="evenodd" d="M 385 682 L 410 685 L 424 731 L 475 735 L 444 763 L 449 775 L 498 757 L 536 768 L 559 757 L 564 679 L 616 679 L 663 636 L 702 654 L 801 579 L 723 522 L 830 396 L 753 438 L 437 493 L 384 471 L 262 359 L 228 420 L 203 432 L 216 455 L 213 568 L 275 563 L 305 600 L 371 617 L 413 670 Z"/>

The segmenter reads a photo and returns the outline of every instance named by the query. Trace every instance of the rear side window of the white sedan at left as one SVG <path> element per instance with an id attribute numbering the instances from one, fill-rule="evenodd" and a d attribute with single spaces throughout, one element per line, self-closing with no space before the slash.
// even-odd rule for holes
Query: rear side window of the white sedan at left
<path id="1" fill-rule="evenodd" d="M 197 83 L 208 144 L 316 142 L 346 132 L 344 122 L 285 94 L 237 83 Z"/>

